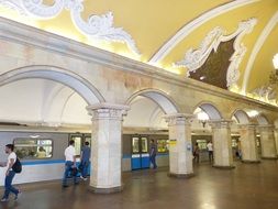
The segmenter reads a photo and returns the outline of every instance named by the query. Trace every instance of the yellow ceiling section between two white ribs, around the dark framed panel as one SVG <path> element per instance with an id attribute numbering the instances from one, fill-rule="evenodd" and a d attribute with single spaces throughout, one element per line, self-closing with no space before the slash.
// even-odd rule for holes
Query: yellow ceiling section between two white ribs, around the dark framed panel
<path id="1" fill-rule="evenodd" d="M 264 8 L 264 10 L 262 9 Z M 226 34 L 232 34 L 238 28 L 240 22 L 249 20 L 252 18 L 257 19 L 257 24 L 254 26 L 252 33 L 246 34 L 242 42 L 247 47 L 247 52 L 243 57 L 240 65 L 241 77 L 238 84 L 241 85 L 243 70 L 246 67 L 246 62 L 248 59 L 249 53 L 256 38 L 259 36 L 265 24 L 271 18 L 271 15 L 278 9 L 278 1 L 258 1 L 252 4 L 247 4 L 242 8 L 223 13 L 209 22 L 205 22 L 198 29 L 196 29 L 191 34 L 189 34 L 184 41 L 181 41 L 163 61 L 162 66 L 165 68 L 174 68 L 173 63 L 181 61 L 185 57 L 186 52 L 189 48 L 198 48 L 204 37 L 214 28 L 220 26 L 226 31 Z M 176 68 L 180 70 L 181 75 L 186 75 L 187 70 L 185 68 Z"/>

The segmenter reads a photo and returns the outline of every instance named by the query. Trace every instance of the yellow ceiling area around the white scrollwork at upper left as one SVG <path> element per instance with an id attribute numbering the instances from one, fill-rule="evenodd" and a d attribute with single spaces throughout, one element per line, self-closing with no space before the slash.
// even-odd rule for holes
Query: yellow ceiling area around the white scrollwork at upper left
<path id="1" fill-rule="evenodd" d="M 9 1 L 9 0 L 5 0 Z M 44 0 L 47 6 L 52 6 L 58 0 Z M 221 4 L 231 2 L 231 0 L 93 0 L 84 1 L 84 11 L 81 18 L 86 21 L 92 14 L 101 15 L 109 11 L 113 13 L 113 23 L 116 28 L 123 28 L 135 40 L 137 47 L 142 52 L 142 61 L 148 61 L 151 56 L 166 42 L 175 32 L 177 32 L 187 22 L 196 16 Z M 4 12 L 3 12 L 4 11 Z M 75 25 L 69 21 L 70 13 L 64 10 L 54 19 L 34 21 L 30 18 L 19 18 L 15 12 L 7 12 L 1 9 L 1 13 L 10 19 L 34 25 L 53 33 L 57 33 L 79 42 L 97 45 L 104 50 L 123 53 L 127 55 L 130 52 L 123 44 L 99 44 L 90 41 L 82 35 Z"/>

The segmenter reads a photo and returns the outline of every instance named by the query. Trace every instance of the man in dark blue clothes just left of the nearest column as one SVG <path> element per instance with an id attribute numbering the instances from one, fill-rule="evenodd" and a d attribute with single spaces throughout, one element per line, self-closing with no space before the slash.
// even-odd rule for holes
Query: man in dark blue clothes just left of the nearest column
<path id="1" fill-rule="evenodd" d="M 85 146 L 81 150 L 80 165 L 81 165 L 81 176 L 80 178 L 87 180 L 88 167 L 90 164 L 91 148 L 89 142 L 85 142 Z"/>

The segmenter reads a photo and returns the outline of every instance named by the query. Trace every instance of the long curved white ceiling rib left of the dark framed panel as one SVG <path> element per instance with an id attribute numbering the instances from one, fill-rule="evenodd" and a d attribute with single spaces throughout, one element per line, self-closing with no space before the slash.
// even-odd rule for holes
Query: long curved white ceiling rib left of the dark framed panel
<path id="1" fill-rule="evenodd" d="M 215 9 L 210 10 L 209 12 L 200 15 L 199 18 L 194 19 L 193 21 L 186 24 L 181 28 L 170 40 L 168 40 L 159 50 L 158 52 L 149 59 L 151 64 L 159 63 L 164 57 L 166 57 L 185 37 L 187 37 L 192 31 L 202 25 L 203 23 L 208 22 L 209 20 L 234 10 L 240 7 L 244 7 L 249 3 L 254 3 L 260 0 L 236 0 L 230 3 L 223 4 Z"/>

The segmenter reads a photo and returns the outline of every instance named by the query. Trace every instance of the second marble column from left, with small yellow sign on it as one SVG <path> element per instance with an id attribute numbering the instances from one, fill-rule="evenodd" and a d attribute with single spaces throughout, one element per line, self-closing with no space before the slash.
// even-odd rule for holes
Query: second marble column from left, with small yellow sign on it
<path id="1" fill-rule="evenodd" d="M 191 177 L 192 143 L 191 143 L 191 116 L 177 113 L 166 117 L 169 125 L 169 176 Z"/>

